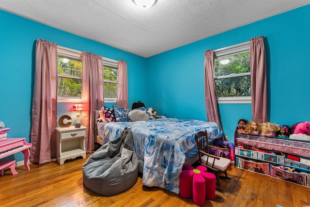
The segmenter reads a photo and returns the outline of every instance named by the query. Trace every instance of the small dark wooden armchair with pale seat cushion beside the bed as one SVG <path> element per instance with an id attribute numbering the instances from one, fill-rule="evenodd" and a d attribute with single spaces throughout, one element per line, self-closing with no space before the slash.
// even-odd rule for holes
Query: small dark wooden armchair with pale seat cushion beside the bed
<path id="1" fill-rule="evenodd" d="M 201 165 L 213 171 L 214 175 L 217 177 L 217 187 L 220 191 L 222 191 L 219 186 L 218 178 L 220 177 L 229 180 L 231 179 L 230 177 L 227 176 L 226 172 L 226 169 L 230 165 L 231 160 L 223 157 L 224 151 L 229 151 L 229 149 L 209 145 L 207 131 L 200 131 L 196 133 L 195 137 L 199 155 L 198 162 Z M 215 155 L 210 154 L 209 148 L 213 148 L 216 150 Z M 216 156 L 218 150 L 222 151 L 220 153 L 220 156 Z M 224 173 L 225 176 L 219 176 L 219 173 Z"/>

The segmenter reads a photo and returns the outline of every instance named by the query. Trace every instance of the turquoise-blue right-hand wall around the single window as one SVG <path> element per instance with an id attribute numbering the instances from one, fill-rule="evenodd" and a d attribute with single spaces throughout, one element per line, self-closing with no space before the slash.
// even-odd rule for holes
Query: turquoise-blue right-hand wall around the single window
<path id="1" fill-rule="evenodd" d="M 204 51 L 263 35 L 269 120 L 287 125 L 310 121 L 309 19 L 307 5 L 148 58 L 148 74 L 156 77 L 147 85 L 149 104 L 158 114 L 206 120 Z M 252 118 L 251 104 L 219 104 L 218 108 L 223 130 L 233 142 L 238 120 Z"/>

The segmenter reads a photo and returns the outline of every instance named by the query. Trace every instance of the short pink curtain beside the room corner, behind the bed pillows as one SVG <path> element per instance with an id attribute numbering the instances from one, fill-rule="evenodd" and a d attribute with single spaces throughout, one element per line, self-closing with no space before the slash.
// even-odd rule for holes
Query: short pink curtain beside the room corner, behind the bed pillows
<path id="1" fill-rule="evenodd" d="M 128 82 L 126 61 L 118 61 L 116 105 L 128 109 Z"/>

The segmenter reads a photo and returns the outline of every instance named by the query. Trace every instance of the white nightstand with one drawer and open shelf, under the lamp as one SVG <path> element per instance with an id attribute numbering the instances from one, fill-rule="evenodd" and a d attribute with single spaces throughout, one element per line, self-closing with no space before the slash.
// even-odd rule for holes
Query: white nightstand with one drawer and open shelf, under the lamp
<path id="1" fill-rule="evenodd" d="M 59 164 L 63 164 L 66 159 L 75 159 L 77 157 L 86 158 L 85 135 L 86 127 L 76 128 L 57 127 L 57 148 L 56 158 Z"/>

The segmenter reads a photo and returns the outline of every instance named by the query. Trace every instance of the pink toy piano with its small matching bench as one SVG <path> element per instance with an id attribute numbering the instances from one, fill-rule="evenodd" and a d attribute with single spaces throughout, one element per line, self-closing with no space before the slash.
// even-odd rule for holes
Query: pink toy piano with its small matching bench
<path id="1" fill-rule="evenodd" d="M 25 140 L 26 138 L 6 138 L 5 140 L 0 141 L 0 159 L 13 155 L 17 152 L 22 152 L 24 154 L 25 169 L 30 170 L 28 159 L 30 157 L 29 148 L 31 147 L 31 143 L 27 143 Z M 3 169 L 5 167 L 10 168 L 13 175 L 17 174 L 15 170 L 15 162 L 15 160 L 0 161 L 1 175 L 3 175 Z"/>

